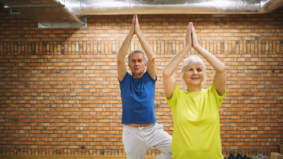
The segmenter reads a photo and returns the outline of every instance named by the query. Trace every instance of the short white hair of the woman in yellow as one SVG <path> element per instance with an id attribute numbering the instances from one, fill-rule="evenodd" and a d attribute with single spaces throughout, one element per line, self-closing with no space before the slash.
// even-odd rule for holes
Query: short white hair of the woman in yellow
<path id="1" fill-rule="evenodd" d="M 206 76 L 206 73 L 205 73 L 205 65 L 204 65 L 204 61 L 202 61 L 202 59 L 200 59 L 200 57 L 197 57 L 195 55 L 193 56 L 190 56 L 190 57 L 187 57 L 187 59 L 185 59 L 183 61 L 183 65 L 182 65 L 182 71 L 181 71 L 181 78 L 183 81 L 184 80 L 184 73 L 185 73 L 185 70 L 187 68 L 190 68 L 192 66 L 195 66 L 196 64 L 200 64 L 200 68 L 202 68 L 202 71 L 204 72 L 204 81 L 202 81 L 202 84 L 204 84 L 207 76 Z"/>

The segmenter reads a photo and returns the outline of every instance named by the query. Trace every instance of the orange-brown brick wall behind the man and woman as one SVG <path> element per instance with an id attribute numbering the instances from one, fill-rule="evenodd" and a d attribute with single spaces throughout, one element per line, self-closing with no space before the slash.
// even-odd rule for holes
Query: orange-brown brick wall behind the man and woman
<path id="1" fill-rule="evenodd" d="M 283 141 L 283 8 L 269 14 L 143 15 L 156 54 L 156 118 L 173 133 L 164 66 L 195 25 L 202 46 L 227 66 L 219 110 L 224 155 L 278 151 Z M 132 16 L 88 16 L 88 28 L 40 29 L 0 6 L 0 154 L 125 155 L 116 57 Z M 141 46 L 134 37 L 131 50 Z M 191 50 L 190 54 L 197 54 Z M 214 71 L 207 64 L 207 86 Z M 180 82 L 180 66 L 175 71 Z M 159 152 L 151 149 L 148 155 Z"/>

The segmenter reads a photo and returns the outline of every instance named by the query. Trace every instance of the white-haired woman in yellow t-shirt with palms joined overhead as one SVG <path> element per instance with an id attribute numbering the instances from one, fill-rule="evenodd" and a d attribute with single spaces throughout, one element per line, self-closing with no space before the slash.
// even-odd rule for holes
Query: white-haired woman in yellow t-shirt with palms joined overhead
<path id="1" fill-rule="evenodd" d="M 185 47 L 163 70 L 166 100 L 173 112 L 173 159 L 223 159 L 220 139 L 219 108 L 225 97 L 226 66 L 197 42 L 192 23 L 187 27 Z M 173 72 L 193 47 L 216 71 L 212 86 L 202 89 L 204 62 L 200 57 L 185 59 L 182 78 L 186 89 L 180 90 Z"/>

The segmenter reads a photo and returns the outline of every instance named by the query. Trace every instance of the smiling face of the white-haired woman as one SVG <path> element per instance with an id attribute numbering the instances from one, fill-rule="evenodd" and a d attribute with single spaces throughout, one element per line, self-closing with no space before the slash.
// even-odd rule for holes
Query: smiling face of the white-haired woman
<path id="1" fill-rule="evenodd" d="M 187 68 L 184 72 L 184 80 L 187 86 L 201 86 L 204 81 L 204 71 L 200 64 Z"/>

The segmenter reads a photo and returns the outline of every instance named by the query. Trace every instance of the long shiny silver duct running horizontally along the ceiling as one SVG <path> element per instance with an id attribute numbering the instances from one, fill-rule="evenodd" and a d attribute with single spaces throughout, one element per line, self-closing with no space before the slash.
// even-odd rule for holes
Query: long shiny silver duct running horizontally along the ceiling
<path id="1" fill-rule="evenodd" d="M 258 14 L 270 13 L 283 0 L 57 0 L 76 15 Z"/>

